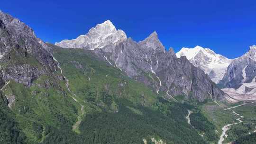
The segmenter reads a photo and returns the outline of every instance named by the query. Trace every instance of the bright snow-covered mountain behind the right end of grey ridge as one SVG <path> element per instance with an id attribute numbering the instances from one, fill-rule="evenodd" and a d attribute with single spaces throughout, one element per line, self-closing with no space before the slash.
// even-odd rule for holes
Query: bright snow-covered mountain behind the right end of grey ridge
<path id="1" fill-rule="evenodd" d="M 185 56 L 194 66 L 201 68 L 210 76 L 210 79 L 215 83 L 219 83 L 226 73 L 231 59 L 223 55 L 216 54 L 209 48 L 196 46 L 194 48 L 183 47 L 177 57 Z"/>

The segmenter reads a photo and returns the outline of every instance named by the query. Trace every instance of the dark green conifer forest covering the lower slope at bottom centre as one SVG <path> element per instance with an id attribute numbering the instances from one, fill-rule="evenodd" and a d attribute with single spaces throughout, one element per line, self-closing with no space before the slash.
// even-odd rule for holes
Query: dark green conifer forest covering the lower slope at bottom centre
<path id="1" fill-rule="evenodd" d="M 164 101 L 164 100 L 160 100 Z M 186 109 L 180 104 L 157 102 L 167 113 L 134 106 L 125 99 L 119 99 L 119 111 L 93 112 L 86 115 L 80 126 L 80 135 L 66 131 L 51 132 L 44 144 L 143 144 L 143 139 L 150 141 L 152 137 L 164 140 L 166 144 L 205 144 L 200 135 L 190 127 L 185 119 Z M 142 113 L 134 113 L 130 108 Z M 57 141 L 57 140 L 62 141 Z"/>

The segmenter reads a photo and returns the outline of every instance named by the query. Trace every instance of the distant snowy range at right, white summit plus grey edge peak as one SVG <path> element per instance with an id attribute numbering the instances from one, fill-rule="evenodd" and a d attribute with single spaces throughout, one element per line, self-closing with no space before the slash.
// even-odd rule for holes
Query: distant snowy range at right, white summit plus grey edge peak
<path id="1" fill-rule="evenodd" d="M 219 84 L 232 98 L 256 99 L 256 45 L 250 46 L 246 54 L 235 59 L 228 59 L 201 46 L 182 48 L 176 55 L 186 56 L 194 66 L 207 73 L 211 80 Z"/>

